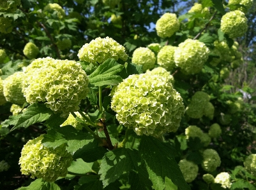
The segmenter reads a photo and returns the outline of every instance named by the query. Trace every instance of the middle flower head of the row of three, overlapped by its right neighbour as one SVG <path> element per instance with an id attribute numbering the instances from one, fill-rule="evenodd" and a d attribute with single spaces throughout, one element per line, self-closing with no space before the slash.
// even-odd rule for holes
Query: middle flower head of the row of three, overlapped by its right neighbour
<path id="1" fill-rule="evenodd" d="M 174 62 L 174 52 L 176 49 L 177 47 L 175 46 L 163 46 L 157 55 L 157 64 L 167 71 L 172 71 L 176 67 Z"/>

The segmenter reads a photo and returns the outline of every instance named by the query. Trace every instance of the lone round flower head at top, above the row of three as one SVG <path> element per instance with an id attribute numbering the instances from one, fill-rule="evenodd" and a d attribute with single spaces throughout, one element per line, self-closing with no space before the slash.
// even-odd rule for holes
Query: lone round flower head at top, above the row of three
<path id="1" fill-rule="evenodd" d="M 159 37 L 172 36 L 179 30 L 179 20 L 174 13 L 165 13 L 156 21 L 156 33 Z"/>

